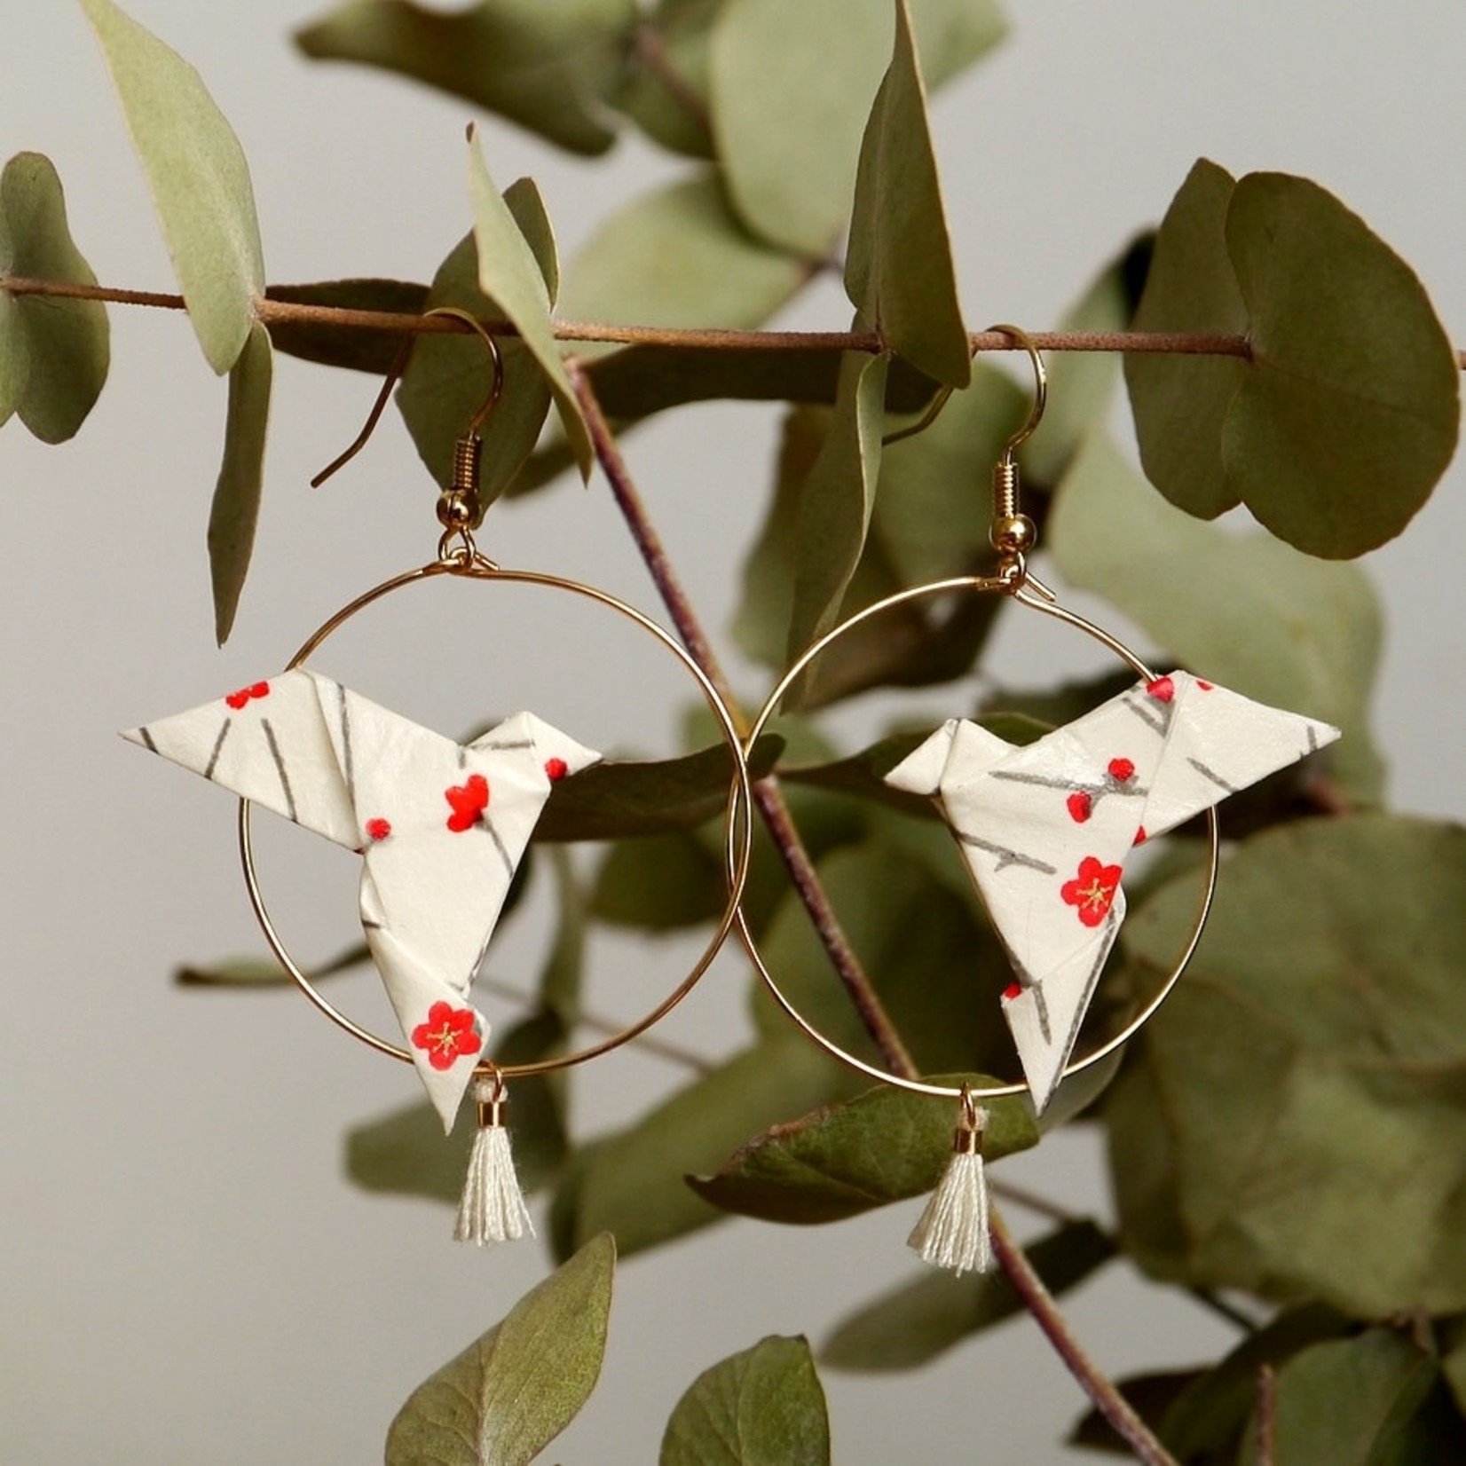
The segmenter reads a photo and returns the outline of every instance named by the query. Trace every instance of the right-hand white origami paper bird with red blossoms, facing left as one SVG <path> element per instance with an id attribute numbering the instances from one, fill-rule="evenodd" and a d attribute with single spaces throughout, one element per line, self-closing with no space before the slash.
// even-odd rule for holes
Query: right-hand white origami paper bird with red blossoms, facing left
<path id="1" fill-rule="evenodd" d="M 1338 737 L 1177 671 L 1016 748 L 951 718 L 887 776 L 929 795 L 1013 962 L 1003 994 L 1023 1075 L 1048 1104 L 1124 919 L 1129 852 Z"/>

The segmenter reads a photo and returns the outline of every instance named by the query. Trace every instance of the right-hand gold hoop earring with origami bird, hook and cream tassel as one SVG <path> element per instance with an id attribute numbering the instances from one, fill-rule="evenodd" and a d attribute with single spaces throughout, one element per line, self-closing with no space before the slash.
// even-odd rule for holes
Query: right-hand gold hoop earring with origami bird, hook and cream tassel
<path id="1" fill-rule="evenodd" d="M 1061 607 L 1032 575 L 1028 556 L 1038 531 L 1020 512 L 1014 454 L 1042 418 L 1047 377 L 1023 331 L 1013 325 L 992 330 L 1028 352 L 1035 381 L 1029 418 L 992 472 L 990 539 L 997 572 L 910 586 L 818 638 L 770 692 L 745 736 L 745 756 L 790 686 L 831 644 L 894 607 L 931 597 L 1007 595 L 1101 642 L 1136 673 L 1139 682 L 1126 692 L 1022 748 L 976 723 L 950 718 L 885 776 L 897 789 L 929 796 L 962 847 L 1013 965 L 1003 1013 L 1023 1080 L 982 1088 L 929 1083 L 850 1054 L 799 1012 L 742 913 L 737 918 L 739 937 L 774 1001 L 821 1048 L 883 1083 L 960 1102 L 951 1164 L 910 1236 L 925 1261 L 957 1272 L 991 1265 L 982 1180 L 987 1113 L 979 1102 L 1026 1092 L 1042 1111 L 1063 1079 L 1100 1063 L 1149 1022 L 1186 970 L 1211 910 L 1220 856 L 1217 802 L 1338 736 L 1327 724 L 1250 702 L 1185 671 L 1157 676 L 1119 638 Z M 941 400 L 922 425 L 940 406 Z M 1151 836 L 1198 814 L 1207 817 L 1208 859 L 1196 915 L 1174 966 L 1117 1034 L 1075 1058 L 1079 1028 L 1124 915 L 1126 858 Z M 733 855 L 730 841 L 730 862 Z"/>

